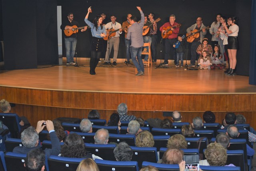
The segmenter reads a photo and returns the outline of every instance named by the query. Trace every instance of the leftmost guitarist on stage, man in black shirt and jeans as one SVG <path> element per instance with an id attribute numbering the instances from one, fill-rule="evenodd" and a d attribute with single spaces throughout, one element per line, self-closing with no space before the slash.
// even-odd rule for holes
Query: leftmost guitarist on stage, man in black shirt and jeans
<path id="1" fill-rule="evenodd" d="M 64 23 L 61 24 L 60 29 L 61 30 L 71 30 L 72 26 L 79 27 L 79 23 L 74 20 L 74 14 L 72 12 L 68 13 L 68 20 L 65 20 Z M 84 29 L 81 29 L 81 32 L 84 32 L 87 30 L 87 26 L 84 27 Z M 65 35 L 65 47 L 66 47 L 66 58 L 67 62 L 66 65 L 76 64 L 74 62 L 74 55 L 76 51 L 76 34 L 72 34 L 71 36 Z"/>

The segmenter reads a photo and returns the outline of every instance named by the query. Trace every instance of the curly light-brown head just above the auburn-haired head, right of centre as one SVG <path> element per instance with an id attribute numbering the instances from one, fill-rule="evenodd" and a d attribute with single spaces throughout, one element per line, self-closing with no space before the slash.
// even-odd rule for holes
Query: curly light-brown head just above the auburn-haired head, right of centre
<path id="1" fill-rule="evenodd" d="M 174 134 L 167 141 L 167 148 L 186 149 L 187 147 L 188 143 L 185 137 L 181 134 Z"/>

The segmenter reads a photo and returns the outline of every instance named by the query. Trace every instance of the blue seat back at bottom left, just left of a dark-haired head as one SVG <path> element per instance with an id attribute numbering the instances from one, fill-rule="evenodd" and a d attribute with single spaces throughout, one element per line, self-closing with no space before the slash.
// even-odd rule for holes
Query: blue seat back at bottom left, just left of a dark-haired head
<path id="1" fill-rule="evenodd" d="M 25 171 L 26 154 L 7 152 L 4 156 L 6 169 L 8 171 Z"/>

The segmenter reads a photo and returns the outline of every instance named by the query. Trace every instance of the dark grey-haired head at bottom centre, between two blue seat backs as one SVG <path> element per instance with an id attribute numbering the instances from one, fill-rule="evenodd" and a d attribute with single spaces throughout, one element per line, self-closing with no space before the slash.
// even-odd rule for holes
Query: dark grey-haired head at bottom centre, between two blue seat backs
<path id="1" fill-rule="evenodd" d="M 114 149 L 116 161 L 131 161 L 132 149 L 126 142 L 120 142 Z"/>

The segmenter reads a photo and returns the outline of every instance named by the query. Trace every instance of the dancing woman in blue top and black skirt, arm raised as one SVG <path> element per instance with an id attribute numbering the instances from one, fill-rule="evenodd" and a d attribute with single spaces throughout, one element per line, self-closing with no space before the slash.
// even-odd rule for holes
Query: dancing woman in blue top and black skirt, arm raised
<path id="1" fill-rule="evenodd" d="M 91 59 L 90 59 L 90 74 L 95 75 L 95 68 L 98 65 L 99 58 L 103 50 L 103 38 L 106 37 L 105 27 L 102 26 L 102 16 L 96 16 L 93 22 L 88 20 L 89 13 L 92 12 L 91 7 L 88 8 L 88 13 L 84 18 L 84 22 L 91 27 L 92 43 L 91 43 Z"/>

